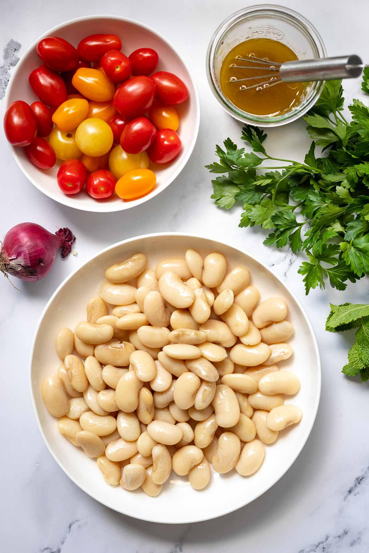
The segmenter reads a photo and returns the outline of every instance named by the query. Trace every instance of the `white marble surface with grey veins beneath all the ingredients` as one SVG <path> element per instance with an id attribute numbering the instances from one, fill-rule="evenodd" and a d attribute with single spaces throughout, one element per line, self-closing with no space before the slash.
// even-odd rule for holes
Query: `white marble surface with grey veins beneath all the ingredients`
<path id="1" fill-rule="evenodd" d="M 323 35 L 328 54 L 361 54 L 368 61 L 366 0 L 284 0 L 302 12 Z M 210 177 L 204 169 L 213 158 L 215 142 L 227 135 L 240 142 L 240 124 L 212 97 L 205 75 L 205 51 L 212 32 L 241 1 L 169 2 L 111 0 L 103 7 L 90 0 L 2 0 L 0 46 L 13 39 L 19 55 L 40 34 L 64 20 L 94 13 L 119 14 L 141 20 L 163 33 L 193 68 L 201 100 L 198 142 L 176 181 L 152 201 L 124 213 L 94 215 L 61 206 L 43 196 L 20 172 L 0 133 L 0 234 L 23 221 L 52 231 L 67 226 L 77 236 L 77 257 L 56 262 L 39 283 L 1 283 L 2 417 L 0 456 L 2 501 L 1 549 L 4 552 L 202 553 L 354 553 L 369 549 L 367 506 L 368 387 L 340 373 L 353 334 L 324 330 L 329 301 L 367 302 L 367 279 L 344 293 L 304 294 L 297 274 L 299 260 L 288 251 L 262 245 L 263 233 L 237 228 L 240 208 L 218 210 L 210 200 Z M 355 9 L 354 9 L 355 8 Z M 9 64 L 5 60 L 6 65 Z M 0 68 L 0 76 L 6 74 Z M 347 82 L 347 98 L 361 97 L 358 81 Z M 19 93 L 20 98 L 22 92 Z M 367 101 L 367 98 L 366 98 Z M 3 101 L 0 101 L 1 117 Z M 309 147 L 302 121 L 268 132 L 268 147 L 276 154 L 301 159 Z M 282 155 L 284 157 L 285 155 Z M 63 279 L 92 253 L 121 239 L 149 232 L 199 233 L 247 249 L 273 265 L 302 301 L 318 337 L 323 389 L 311 436 L 287 474 L 247 507 L 217 520 L 193 525 L 164 526 L 124 517 L 81 492 L 49 455 L 35 424 L 28 390 L 30 344 L 41 310 Z M 5 352 L 5 354 L 4 354 Z M 309 367 L 306 367 L 306 371 Z M 220 498 L 221 500 L 221 498 Z M 175 508 L 175 505 L 174 505 Z"/>

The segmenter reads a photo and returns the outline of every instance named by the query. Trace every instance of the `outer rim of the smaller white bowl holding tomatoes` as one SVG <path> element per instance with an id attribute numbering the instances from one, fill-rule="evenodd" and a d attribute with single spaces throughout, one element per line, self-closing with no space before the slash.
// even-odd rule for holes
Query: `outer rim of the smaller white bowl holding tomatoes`
<path id="1" fill-rule="evenodd" d="M 55 33 L 57 33 L 58 31 L 63 30 L 65 25 L 70 25 L 71 23 L 87 21 L 87 20 L 90 20 L 90 19 L 118 19 L 122 22 L 133 23 L 133 24 L 138 25 L 139 27 L 142 27 L 143 29 L 145 29 L 148 32 L 154 34 L 160 40 L 162 40 L 174 52 L 174 54 L 176 56 L 178 56 L 179 60 L 183 64 L 185 70 L 188 72 L 191 85 L 193 86 L 193 89 L 194 89 L 194 103 L 195 103 L 195 115 L 196 115 L 195 132 L 194 132 L 193 137 L 191 139 L 191 143 L 189 145 L 188 152 L 186 153 L 186 155 L 184 155 L 178 169 L 175 171 L 175 173 L 169 179 L 167 179 L 165 184 L 158 186 L 157 189 L 154 189 L 149 194 L 147 194 L 145 196 L 142 196 L 142 197 L 138 198 L 137 200 L 134 200 L 134 202 L 135 202 L 134 205 L 133 205 L 133 202 L 124 202 L 122 200 L 121 202 L 117 201 L 116 203 L 112 203 L 112 204 L 103 204 L 103 205 L 108 205 L 111 208 L 107 209 L 107 210 L 104 210 L 104 211 L 101 211 L 98 208 L 98 206 L 101 205 L 100 202 L 98 202 L 98 201 L 93 201 L 92 202 L 92 200 L 93 200 L 92 198 L 91 198 L 91 207 L 90 206 L 81 206 L 81 205 L 72 205 L 70 203 L 70 201 L 68 201 L 68 199 L 69 199 L 68 195 L 65 194 L 64 196 L 61 197 L 61 199 L 59 199 L 58 197 L 54 196 L 54 194 L 52 193 L 52 190 L 50 191 L 50 193 L 48 191 L 45 191 L 38 184 L 38 181 L 33 179 L 33 177 L 29 174 L 29 171 L 28 171 L 27 167 L 23 166 L 23 164 L 21 163 L 20 158 L 17 154 L 17 150 L 16 150 L 15 146 L 10 144 L 8 141 L 7 141 L 7 143 L 8 143 L 8 147 L 11 149 L 11 152 L 12 152 L 13 158 L 15 160 L 15 163 L 17 163 L 19 169 L 22 171 L 22 173 L 25 175 L 25 177 L 29 180 L 29 182 L 31 184 L 33 184 L 33 186 L 35 186 L 45 196 L 48 196 L 51 200 L 54 200 L 55 202 L 58 202 L 58 204 L 65 205 L 67 207 L 72 207 L 72 208 L 80 210 L 80 211 L 86 211 L 86 212 L 90 212 L 90 213 L 113 213 L 113 212 L 117 212 L 117 211 L 125 211 L 125 210 L 128 210 L 128 209 L 131 209 L 132 207 L 137 207 L 137 206 L 139 206 L 141 204 L 144 204 L 145 202 L 151 200 L 152 198 L 154 198 L 155 196 L 160 194 L 160 192 L 165 190 L 178 177 L 178 175 L 181 173 L 181 171 L 185 168 L 185 165 L 187 164 L 188 160 L 190 159 L 191 154 L 193 153 L 193 150 L 194 150 L 195 144 L 196 144 L 196 140 L 197 140 L 198 134 L 199 134 L 199 128 L 200 128 L 200 97 L 199 97 L 198 87 L 196 85 L 196 82 L 195 82 L 194 76 L 192 74 L 192 71 L 189 69 L 189 67 L 186 64 L 186 62 L 184 61 L 183 57 L 179 54 L 179 51 L 175 48 L 175 46 L 173 44 L 171 44 L 171 42 L 167 38 L 165 38 L 165 36 L 160 34 L 157 30 L 153 29 L 152 27 L 149 27 L 148 25 L 145 25 L 144 23 L 141 23 L 141 22 L 137 21 L 136 19 L 131 19 L 131 18 L 128 18 L 128 17 L 121 17 L 120 15 L 98 15 L 97 14 L 97 15 L 85 15 L 85 16 L 82 16 L 82 17 L 76 17 L 74 19 L 69 19 L 69 20 L 63 22 L 60 25 L 56 25 L 56 27 L 53 27 L 53 28 L 49 29 L 46 33 L 39 36 L 39 38 L 36 39 L 29 46 L 29 48 L 27 48 L 27 50 L 24 52 L 24 54 L 20 57 L 20 60 L 19 60 L 18 64 L 15 66 L 15 69 L 14 69 L 12 75 L 11 75 L 11 78 L 9 79 L 9 82 L 8 82 L 8 85 L 7 85 L 7 90 L 6 90 L 5 97 L 4 97 L 4 111 L 6 111 L 8 109 L 8 107 L 10 106 L 10 104 L 11 104 L 11 102 L 9 101 L 11 86 L 9 86 L 9 85 L 12 84 L 12 82 L 15 78 L 15 75 L 17 75 L 18 71 L 20 71 L 22 61 L 25 59 L 25 57 L 33 49 L 36 48 L 39 41 L 46 38 L 47 36 L 55 35 Z M 129 203 L 131 203 L 132 205 L 129 205 Z"/>

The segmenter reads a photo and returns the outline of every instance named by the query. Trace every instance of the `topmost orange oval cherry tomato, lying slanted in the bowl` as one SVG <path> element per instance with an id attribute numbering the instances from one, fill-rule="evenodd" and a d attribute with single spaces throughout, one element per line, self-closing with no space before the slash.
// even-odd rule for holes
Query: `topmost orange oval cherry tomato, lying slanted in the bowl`
<path id="1" fill-rule="evenodd" d="M 95 102 L 108 102 L 115 94 L 115 85 L 105 73 L 90 67 L 80 67 L 73 75 L 72 85 L 82 95 Z"/>

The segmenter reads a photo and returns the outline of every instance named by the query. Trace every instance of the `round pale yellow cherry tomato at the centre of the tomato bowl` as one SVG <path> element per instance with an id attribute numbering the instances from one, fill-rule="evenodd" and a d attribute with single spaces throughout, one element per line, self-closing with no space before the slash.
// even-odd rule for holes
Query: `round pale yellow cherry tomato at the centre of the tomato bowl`
<path id="1" fill-rule="evenodd" d="M 82 153 L 96 157 L 106 154 L 113 145 L 113 131 L 102 119 L 91 117 L 76 130 L 76 143 Z"/>

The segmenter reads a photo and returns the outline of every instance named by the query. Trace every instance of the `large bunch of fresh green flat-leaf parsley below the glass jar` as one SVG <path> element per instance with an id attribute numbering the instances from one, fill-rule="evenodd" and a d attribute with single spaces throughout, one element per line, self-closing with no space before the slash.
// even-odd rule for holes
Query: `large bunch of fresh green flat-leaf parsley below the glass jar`
<path id="1" fill-rule="evenodd" d="M 369 93 L 368 83 L 369 68 L 362 84 Z M 304 163 L 268 155 L 267 135 L 247 125 L 241 139 L 253 152 L 227 138 L 225 149 L 216 146 L 219 163 L 206 165 L 210 173 L 222 174 L 212 180 L 216 205 L 229 209 L 242 203 L 238 226 L 261 225 L 272 230 L 264 244 L 281 248 L 289 243 L 294 253 L 305 251 L 309 260 L 298 272 L 306 294 L 316 286 L 323 289 L 327 278 L 344 290 L 347 280 L 369 274 L 369 108 L 353 100 L 349 123 L 343 106 L 341 81 L 327 82 L 304 117 L 313 139 Z M 315 157 L 315 146 L 328 155 Z M 264 161 L 272 163 L 262 165 Z M 266 172 L 257 174 L 259 170 Z"/>

